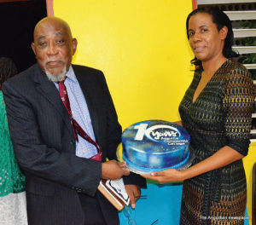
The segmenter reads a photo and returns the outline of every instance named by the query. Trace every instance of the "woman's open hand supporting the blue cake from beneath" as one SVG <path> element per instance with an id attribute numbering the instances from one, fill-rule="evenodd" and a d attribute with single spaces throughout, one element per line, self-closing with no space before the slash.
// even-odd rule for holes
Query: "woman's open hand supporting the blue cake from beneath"
<path id="1" fill-rule="evenodd" d="M 154 180 L 159 183 L 166 182 L 183 182 L 183 171 L 175 170 L 175 169 L 167 169 L 159 172 L 152 172 L 150 175 L 141 175 L 146 179 Z"/>

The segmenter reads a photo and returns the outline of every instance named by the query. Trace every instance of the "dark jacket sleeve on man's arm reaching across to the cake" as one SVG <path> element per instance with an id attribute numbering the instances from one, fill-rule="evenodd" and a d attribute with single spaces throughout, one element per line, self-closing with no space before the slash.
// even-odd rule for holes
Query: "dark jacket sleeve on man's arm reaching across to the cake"
<path id="1" fill-rule="evenodd" d="M 27 101 L 24 93 L 17 87 L 19 87 L 17 84 L 3 84 L 10 136 L 20 168 L 26 173 L 93 196 L 101 179 L 101 162 L 82 159 L 74 153 L 47 145 L 38 124 L 39 120 L 41 123 L 44 121 L 38 118 L 32 103 Z M 63 132 L 54 129 L 53 122 L 52 127 L 49 127 L 53 140 L 54 132 Z"/>

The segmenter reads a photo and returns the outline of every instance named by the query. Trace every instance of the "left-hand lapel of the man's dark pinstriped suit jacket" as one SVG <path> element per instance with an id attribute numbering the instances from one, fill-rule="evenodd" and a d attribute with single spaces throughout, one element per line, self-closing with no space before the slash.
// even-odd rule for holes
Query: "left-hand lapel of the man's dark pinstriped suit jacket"
<path id="1" fill-rule="evenodd" d="M 41 71 L 38 65 L 35 67 L 34 81 L 38 84 L 38 92 L 44 95 L 44 97 L 52 104 L 52 106 L 55 107 L 56 111 L 61 114 L 61 117 L 67 125 L 67 130 L 69 130 L 70 134 L 73 136 L 73 130 L 70 124 L 68 113 L 63 105 L 63 102 L 61 101 L 58 89 L 56 89 L 53 82 L 49 81 L 49 79 L 46 77 L 44 72 Z"/>

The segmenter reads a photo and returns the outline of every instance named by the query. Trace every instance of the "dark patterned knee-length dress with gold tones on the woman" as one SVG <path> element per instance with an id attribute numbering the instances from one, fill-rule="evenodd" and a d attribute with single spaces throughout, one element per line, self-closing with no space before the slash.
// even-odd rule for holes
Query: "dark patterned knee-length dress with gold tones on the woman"
<path id="1" fill-rule="evenodd" d="M 197 164 L 229 146 L 247 155 L 255 91 L 247 69 L 225 61 L 193 103 L 201 72 L 186 91 L 179 107 L 183 127 L 189 131 Z M 183 182 L 180 224 L 243 224 L 247 183 L 238 160 Z"/>

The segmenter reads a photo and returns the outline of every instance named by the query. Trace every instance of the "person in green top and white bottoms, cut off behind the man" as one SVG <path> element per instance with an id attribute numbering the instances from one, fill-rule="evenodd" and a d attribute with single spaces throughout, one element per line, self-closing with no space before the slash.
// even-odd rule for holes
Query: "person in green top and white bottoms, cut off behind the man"
<path id="1" fill-rule="evenodd" d="M 0 225 L 26 225 L 25 177 L 15 160 L 3 101 L 2 84 L 17 73 L 9 58 L 0 58 Z"/>

